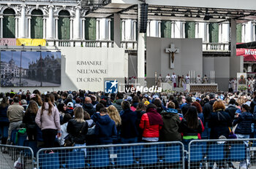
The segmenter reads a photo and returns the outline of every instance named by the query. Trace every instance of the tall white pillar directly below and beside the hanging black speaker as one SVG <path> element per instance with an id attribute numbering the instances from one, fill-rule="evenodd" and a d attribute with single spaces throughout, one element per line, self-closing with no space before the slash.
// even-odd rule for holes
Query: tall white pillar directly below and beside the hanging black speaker
<path id="1" fill-rule="evenodd" d="M 138 23 L 140 23 L 140 4 L 138 4 Z M 139 25 L 139 24 L 138 24 Z M 145 34 L 140 33 L 138 26 L 138 45 L 137 45 L 137 76 L 140 86 L 144 86 L 145 78 Z"/>

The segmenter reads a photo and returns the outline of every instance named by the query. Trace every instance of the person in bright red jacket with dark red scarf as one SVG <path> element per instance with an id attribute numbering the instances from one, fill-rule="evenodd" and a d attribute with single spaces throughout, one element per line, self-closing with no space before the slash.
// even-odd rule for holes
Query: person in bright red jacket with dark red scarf
<path id="1" fill-rule="evenodd" d="M 140 119 L 140 128 L 143 130 L 142 140 L 146 142 L 159 141 L 159 130 L 162 125 L 162 117 L 157 112 L 157 106 L 150 103 L 146 113 Z"/>

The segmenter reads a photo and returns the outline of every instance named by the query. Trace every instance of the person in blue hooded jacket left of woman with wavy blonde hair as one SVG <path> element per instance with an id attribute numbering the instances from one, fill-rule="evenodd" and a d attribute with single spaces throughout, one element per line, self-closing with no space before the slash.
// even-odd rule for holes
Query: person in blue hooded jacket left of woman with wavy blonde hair
<path id="1" fill-rule="evenodd" d="M 117 136 L 116 124 L 108 116 L 107 109 L 100 109 L 99 115 L 95 126 L 95 134 L 99 139 L 99 144 L 113 144 L 113 138 Z"/>

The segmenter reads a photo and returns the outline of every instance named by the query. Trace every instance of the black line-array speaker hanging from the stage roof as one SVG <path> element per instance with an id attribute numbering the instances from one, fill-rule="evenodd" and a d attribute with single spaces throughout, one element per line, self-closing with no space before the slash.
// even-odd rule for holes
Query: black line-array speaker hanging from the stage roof
<path id="1" fill-rule="evenodd" d="M 148 4 L 140 4 L 140 33 L 147 32 Z"/>

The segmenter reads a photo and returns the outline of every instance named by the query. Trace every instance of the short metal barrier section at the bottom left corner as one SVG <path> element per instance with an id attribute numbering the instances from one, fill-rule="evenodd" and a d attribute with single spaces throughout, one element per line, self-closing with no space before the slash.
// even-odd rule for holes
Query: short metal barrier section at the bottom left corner
<path id="1" fill-rule="evenodd" d="M 34 168 L 34 152 L 26 146 L 0 144 L 0 168 Z"/>

